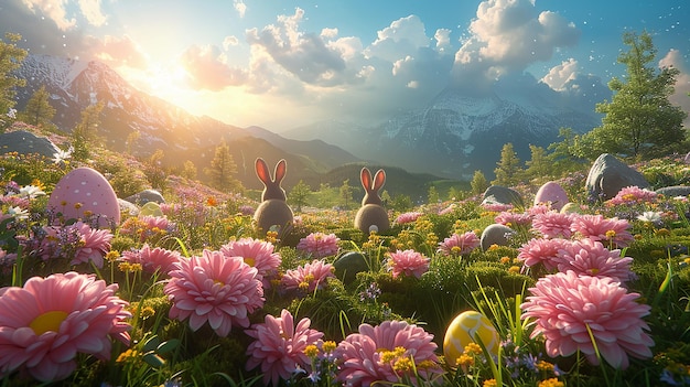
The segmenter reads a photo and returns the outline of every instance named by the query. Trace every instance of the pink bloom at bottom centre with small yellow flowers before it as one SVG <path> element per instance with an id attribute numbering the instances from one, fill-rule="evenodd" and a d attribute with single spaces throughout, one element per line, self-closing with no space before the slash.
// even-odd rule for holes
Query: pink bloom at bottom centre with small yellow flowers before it
<path id="1" fill-rule="evenodd" d="M 336 379 L 348 387 L 432 380 L 443 373 L 438 364 L 433 335 L 405 321 L 359 325 L 335 350 L 341 359 Z M 417 373 L 416 373 L 417 372 Z"/>

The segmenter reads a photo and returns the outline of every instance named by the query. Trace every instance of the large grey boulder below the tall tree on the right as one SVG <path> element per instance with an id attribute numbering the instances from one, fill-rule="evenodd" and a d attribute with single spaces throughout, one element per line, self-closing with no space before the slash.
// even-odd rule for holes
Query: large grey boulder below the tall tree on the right
<path id="1" fill-rule="evenodd" d="M 626 186 L 649 187 L 642 173 L 608 153 L 602 153 L 590 168 L 585 189 L 590 198 L 606 201 Z"/>

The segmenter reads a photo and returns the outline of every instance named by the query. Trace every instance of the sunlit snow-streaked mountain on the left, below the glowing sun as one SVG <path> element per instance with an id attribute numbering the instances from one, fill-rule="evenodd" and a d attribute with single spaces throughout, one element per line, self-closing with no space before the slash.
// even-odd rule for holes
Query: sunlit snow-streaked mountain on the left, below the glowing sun
<path id="1" fill-rule="evenodd" d="M 53 121 L 63 130 L 76 126 L 84 108 L 96 101 L 105 103 L 99 135 L 112 149 L 123 150 L 131 132 L 138 132 L 133 148 L 142 155 L 157 149 L 211 147 L 217 144 L 220 137 L 248 136 L 244 129 L 193 116 L 141 93 L 100 62 L 29 55 L 18 75 L 28 80 L 26 87 L 18 90 L 18 107 L 44 85 L 51 95 L 51 105 L 57 110 Z"/>

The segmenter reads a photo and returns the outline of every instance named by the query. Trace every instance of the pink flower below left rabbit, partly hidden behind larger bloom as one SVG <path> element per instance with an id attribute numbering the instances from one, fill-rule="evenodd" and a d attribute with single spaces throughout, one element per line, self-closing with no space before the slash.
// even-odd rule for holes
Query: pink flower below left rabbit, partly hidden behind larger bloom
<path id="1" fill-rule="evenodd" d="M 281 264 L 280 254 L 273 252 L 273 244 L 261 239 L 241 238 L 220 246 L 220 252 L 227 257 L 241 257 L 245 264 L 257 268 L 263 288 L 271 286 L 270 278 L 278 275 Z"/>

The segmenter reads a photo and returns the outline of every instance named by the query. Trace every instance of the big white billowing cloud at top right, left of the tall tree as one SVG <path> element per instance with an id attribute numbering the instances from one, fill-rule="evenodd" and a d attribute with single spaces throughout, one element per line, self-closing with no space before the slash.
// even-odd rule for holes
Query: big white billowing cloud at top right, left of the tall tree
<path id="1" fill-rule="evenodd" d="M 551 58 L 558 47 L 572 46 L 580 31 L 561 15 L 538 13 L 532 0 L 486 0 L 479 3 L 470 36 L 455 54 L 454 76 L 461 83 L 489 82 L 531 63 Z"/>

